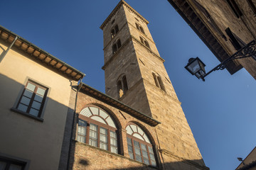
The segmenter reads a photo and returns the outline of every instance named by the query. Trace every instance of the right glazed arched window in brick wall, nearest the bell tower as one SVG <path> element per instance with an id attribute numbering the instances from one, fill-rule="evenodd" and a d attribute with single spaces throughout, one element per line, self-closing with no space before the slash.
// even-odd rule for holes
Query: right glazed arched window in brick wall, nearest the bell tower
<path id="1" fill-rule="evenodd" d="M 127 130 L 129 157 L 138 162 L 156 166 L 153 147 L 144 130 L 135 124 L 128 125 L 125 130 Z"/>

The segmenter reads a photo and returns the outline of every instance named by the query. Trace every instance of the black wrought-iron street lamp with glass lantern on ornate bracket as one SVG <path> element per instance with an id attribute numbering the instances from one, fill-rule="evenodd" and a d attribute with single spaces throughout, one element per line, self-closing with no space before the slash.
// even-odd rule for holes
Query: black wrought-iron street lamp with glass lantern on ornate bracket
<path id="1" fill-rule="evenodd" d="M 188 60 L 188 64 L 186 65 L 185 69 L 188 70 L 192 75 L 196 75 L 198 79 L 202 79 L 205 81 L 205 77 L 208 76 L 213 71 L 216 70 L 223 70 L 226 67 L 226 64 L 232 60 L 242 59 L 252 57 L 256 60 L 256 42 L 255 40 L 252 40 L 249 42 L 245 47 L 242 47 L 238 52 L 235 52 L 234 55 L 228 57 L 226 60 L 218 64 L 218 66 L 214 67 L 210 72 L 206 73 L 205 67 L 206 64 L 204 64 L 198 57 L 196 58 L 190 58 Z"/>

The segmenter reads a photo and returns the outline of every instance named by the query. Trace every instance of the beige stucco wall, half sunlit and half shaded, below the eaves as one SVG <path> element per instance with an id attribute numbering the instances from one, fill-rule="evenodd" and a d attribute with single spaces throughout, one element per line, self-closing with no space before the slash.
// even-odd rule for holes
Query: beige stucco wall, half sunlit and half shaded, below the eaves
<path id="1" fill-rule="evenodd" d="M 0 152 L 30 160 L 29 169 L 58 169 L 70 81 L 15 50 L 0 62 Z M 49 88 L 43 122 L 10 110 L 28 79 Z"/>

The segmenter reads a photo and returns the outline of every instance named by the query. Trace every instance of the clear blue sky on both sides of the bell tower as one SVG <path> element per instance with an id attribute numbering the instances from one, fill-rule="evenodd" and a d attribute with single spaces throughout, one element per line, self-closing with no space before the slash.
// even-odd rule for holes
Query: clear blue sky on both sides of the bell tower
<path id="1" fill-rule="evenodd" d="M 105 91 L 103 38 L 100 25 L 117 0 L 1 1 L 0 25 L 87 74 L 83 82 Z M 184 66 L 200 57 L 209 71 L 218 60 L 166 1 L 127 0 L 149 21 L 149 30 L 166 60 L 176 94 L 182 103 L 206 166 L 235 169 L 255 147 L 256 84 L 245 69 L 192 77 Z"/>

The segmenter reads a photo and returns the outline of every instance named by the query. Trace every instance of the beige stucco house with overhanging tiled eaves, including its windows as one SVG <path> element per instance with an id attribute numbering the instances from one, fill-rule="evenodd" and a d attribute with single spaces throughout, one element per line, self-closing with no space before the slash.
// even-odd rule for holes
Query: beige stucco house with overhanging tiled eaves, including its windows
<path id="1" fill-rule="evenodd" d="M 0 169 L 58 169 L 84 74 L 3 27 L 0 55 Z"/>

